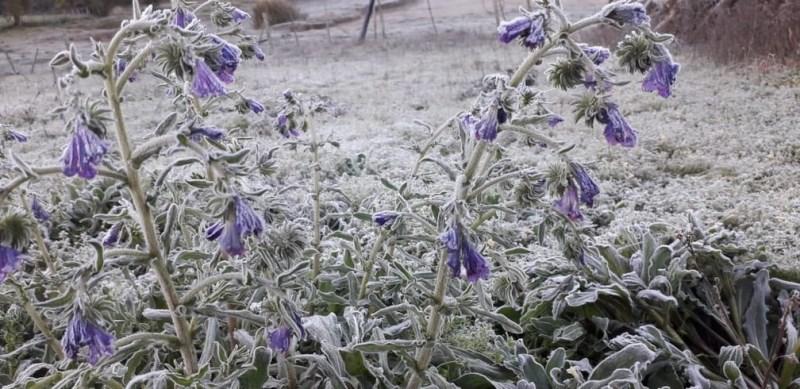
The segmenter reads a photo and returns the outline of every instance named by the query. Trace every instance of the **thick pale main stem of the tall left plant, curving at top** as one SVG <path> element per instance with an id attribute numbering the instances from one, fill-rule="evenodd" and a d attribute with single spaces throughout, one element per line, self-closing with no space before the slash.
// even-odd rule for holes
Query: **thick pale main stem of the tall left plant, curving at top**
<path id="1" fill-rule="evenodd" d="M 135 25 L 136 22 L 131 23 Z M 130 27 L 129 25 L 128 27 Z M 194 374 L 197 371 L 197 354 L 194 350 L 191 334 L 189 333 L 189 325 L 186 320 L 178 313 L 178 305 L 180 300 L 178 294 L 175 292 L 175 286 L 172 283 L 167 263 L 161 252 L 160 241 L 156 232 L 155 223 L 153 221 L 153 214 L 150 206 L 147 204 L 145 192 L 142 189 L 141 180 L 139 179 L 139 170 L 131 159 L 132 148 L 128 130 L 125 127 L 125 118 L 122 114 L 122 106 L 120 104 L 119 95 L 117 94 L 117 85 L 114 77 L 114 58 L 119 49 L 119 44 L 123 37 L 127 34 L 127 28 L 123 28 L 111 39 L 108 52 L 105 58 L 105 89 L 108 105 L 114 114 L 114 123 L 117 132 L 117 145 L 119 152 L 122 155 L 122 162 L 125 165 L 125 172 L 128 176 L 128 189 L 131 193 L 133 205 L 139 214 L 138 222 L 144 232 L 145 242 L 147 244 L 147 252 L 152 258 L 153 271 L 158 279 L 158 284 L 161 287 L 161 292 L 164 294 L 167 308 L 170 311 L 172 322 L 175 326 L 175 334 L 180 339 L 180 352 L 183 357 L 184 370 L 186 374 Z"/>

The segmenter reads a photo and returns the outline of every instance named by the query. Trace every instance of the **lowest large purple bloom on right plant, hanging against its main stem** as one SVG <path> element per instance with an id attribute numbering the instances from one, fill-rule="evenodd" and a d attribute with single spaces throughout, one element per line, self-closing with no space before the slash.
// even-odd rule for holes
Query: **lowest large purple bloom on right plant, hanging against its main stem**
<path id="1" fill-rule="evenodd" d="M 467 239 L 460 224 L 454 224 L 447 229 L 439 240 L 447 248 L 447 266 L 450 267 L 453 277 L 461 276 L 461 268 L 467 272 L 467 280 L 475 283 L 480 279 L 489 278 L 489 264 L 486 258 L 478 252 Z"/>

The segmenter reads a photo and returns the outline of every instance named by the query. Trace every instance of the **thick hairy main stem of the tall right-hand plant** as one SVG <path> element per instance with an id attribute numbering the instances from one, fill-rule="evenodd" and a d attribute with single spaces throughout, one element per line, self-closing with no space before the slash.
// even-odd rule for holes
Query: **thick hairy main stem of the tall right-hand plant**
<path id="1" fill-rule="evenodd" d="M 568 34 L 569 32 L 566 33 Z M 519 68 L 517 68 L 516 72 L 514 72 L 509 86 L 512 88 L 519 86 L 522 81 L 525 80 L 531 68 L 536 65 L 556 43 L 557 41 L 555 40 L 550 41 L 542 48 L 530 53 Z M 469 188 L 472 186 L 472 179 L 481 165 L 481 160 L 486 152 L 486 148 L 486 142 L 479 141 L 472 149 L 469 162 L 467 162 L 467 166 L 464 167 L 464 172 L 456 179 L 456 203 L 463 202 L 467 199 Z M 433 356 L 433 348 L 436 340 L 439 338 L 439 330 L 441 329 L 442 314 L 440 311 L 444 305 L 448 280 L 447 250 L 442 249 L 439 253 L 439 261 L 437 263 L 436 284 L 432 296 L 433 301 L 430 306 L 430 317 L 428 318 L 428 324 L 425 329 L 426 342 L 422 348 L 417 350 L 415 356 L 417 365 L 409 377 L 408 384 L 406 385 L 408 389 L 418 389 L 420 387 L 423 380 L 422 374 L 424 374 L 425 370 L 427 370 L 430 365 Z"/>

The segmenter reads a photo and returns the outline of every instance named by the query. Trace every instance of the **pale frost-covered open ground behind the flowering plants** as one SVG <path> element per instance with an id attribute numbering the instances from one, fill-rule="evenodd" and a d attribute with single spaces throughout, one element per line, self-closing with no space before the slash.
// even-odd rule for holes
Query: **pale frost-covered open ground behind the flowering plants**
<path id="1" fill-rule="evenodd" d="M 273 39 L 263 44 L 267 60 L 244 64 L 237 85 L 267 105 L 287 88 L 324 97 L 330 112 L 318 116 L 314 125 L 341 147 L 323 150 L 323 169 L 345 192 L 370 195 L 381 188 L 379 176 L 403 177 L 413 165 L 412 146 L 429 137 L 416 120 L 437 126 L 467 109 L 483 75 L 509 71 L 525 55 L 496 42 L 488 2 L 432 2 L 438 34 L 433 32 L 425 1 L 387 11 L 386 38 L 379 24 L 377 38 L 371 28 L 367 43 L 360 46 L 354 44 L 359 28 L 355 22 L 333 26 L 330 32 L 295 35 L 276 30 Z M 351 12 L 351 3 L 301 1 L 300 6 L 309 17 L 323 17 L 326 12 Z M 506 12 L 512 15 L 514 7 L 508 3 Z M 574 14 L 585 15 L 599 2 L 567 3 L 572 3 Z M 115 17 L 0 32 L 0 47 L 10 51 L 23 74 L 11 75 L 9 64 L 0 58 L 0 124 L 31 135 L 29 143 L 13 146 L 23 160 L 53 164 L 67 141 L 64 123 L 48 115 L 56 104 L 56 91 L 53 75 L 42 61 L 63 49 L 65 40 L 75 40 L 84 49 L 89 36 L 107 40 L 118 23 Z M 30 74 L 36 48 L 40 63 Z M 636 149 L 609 148 L 601 128 L 582 123 L 568 121 L 550 130 L 553 138 L 577 145 L 573 155 L 592 162 L 601 183 L 603 193 L 587 220 L 601 234 L 610 235 L 635 224 L 682 225 L 692 211 L 706 224 L 719 223 L 741 235 L 753 255 L 795 264 L 800 251 L 797 71 L 769 61 L 718 66 L 686 50 L 677 58 L 683 70 L 674 97 L 663 100 L 643 94 L 637 76 L 631 77 L 633 85 L 617 94 L 640 132 Z M 125 97 L 130 128 L 139 137 L 149 134 L 169 107 L 169 97 L 155 87 L 154 81 L 141 77 Z M 557 111 L 571 116 L 569 96 L 553 93 L 551 100 Z M 231 112 L 212 122 L 239 128 L 241 136 L 258 137 L 264 150 L 283 142 L 271 131 L 268 117 Z M 514 158 L 536 160 L 537 153 L 543 153 L 536 148 L 519 150 Z M 362 177 L 339 177 L 347 160 L 357 160 L 358 154 L 366 156 Z M 280 159 L 279 180 L 289 172 L 296 176 L 308 169 L 302 153 L 285 155 Z M 3 163 L 2 169 L 10 169 Z"/>

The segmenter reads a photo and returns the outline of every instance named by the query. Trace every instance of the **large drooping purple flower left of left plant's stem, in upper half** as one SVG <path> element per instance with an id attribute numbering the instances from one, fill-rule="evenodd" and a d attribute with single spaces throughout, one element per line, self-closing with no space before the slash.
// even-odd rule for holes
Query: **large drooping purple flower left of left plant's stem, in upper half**
<path id="1" fill-rule="evenodd" d="M 77 174 L 87 180 L 94 178 L 97 175 L 97 165 L 103 161 L 107 152 L 106 142 L 82 120 L 76 120 L 72 140 L 61 156 L 64 175 L 73 177 Z"/>

